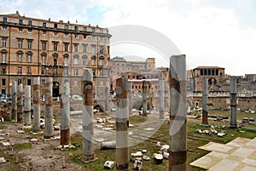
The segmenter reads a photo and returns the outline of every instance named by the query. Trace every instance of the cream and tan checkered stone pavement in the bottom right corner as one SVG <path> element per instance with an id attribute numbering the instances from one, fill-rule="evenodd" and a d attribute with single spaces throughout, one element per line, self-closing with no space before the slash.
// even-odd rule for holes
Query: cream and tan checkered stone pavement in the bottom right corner
<path id="1" fill-rule="evenodd" d="M 256 137 L 238 137 L 225 145 L 209 142 L 199 148 L 212 152 L 190 165 L 210 171 L 256 171 Z"/>

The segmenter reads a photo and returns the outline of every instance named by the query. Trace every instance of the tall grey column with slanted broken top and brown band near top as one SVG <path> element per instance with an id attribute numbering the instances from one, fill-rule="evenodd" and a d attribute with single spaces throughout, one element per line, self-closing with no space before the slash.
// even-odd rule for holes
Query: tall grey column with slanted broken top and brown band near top
<path id="1" fill-rule="evenodd" d="M 84 99 L 83 106 L 83 160 L 89 161 L 94 159 L 93 151 L 93 74 L 92 70 L 84 68 L 82 80 L 82 92 Z"/>

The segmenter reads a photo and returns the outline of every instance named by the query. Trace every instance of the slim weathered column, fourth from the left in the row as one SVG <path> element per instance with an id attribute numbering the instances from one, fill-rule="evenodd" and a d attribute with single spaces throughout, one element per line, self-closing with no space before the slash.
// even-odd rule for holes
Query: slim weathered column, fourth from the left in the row
<path id="1" fill-rule="evenodd" d="M 33 132 L 40 131 L 40 77 L 33 80 Z"/>

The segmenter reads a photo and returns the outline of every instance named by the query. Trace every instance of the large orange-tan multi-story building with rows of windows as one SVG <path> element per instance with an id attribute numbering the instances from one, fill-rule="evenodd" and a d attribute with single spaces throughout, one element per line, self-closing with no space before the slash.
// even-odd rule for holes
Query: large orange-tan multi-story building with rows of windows
<path id="1" fill-rule="evenodd" d="M 44 85 L 45 77 L 53 77 L 54 96 L 66 82 L 71 94 L 81 94 L 84 67 L 92 69 L 96 83 L 108 79 L 110 37 L 99 26 L 0 14 L 0 93 L 10 94 L 14 81 L 32 85 L 33 77 L 41 77 Z"/>

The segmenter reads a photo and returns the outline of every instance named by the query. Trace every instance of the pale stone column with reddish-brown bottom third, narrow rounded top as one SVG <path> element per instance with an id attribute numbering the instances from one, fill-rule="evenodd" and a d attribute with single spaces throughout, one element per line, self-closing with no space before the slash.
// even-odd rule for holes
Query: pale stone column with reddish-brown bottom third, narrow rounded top
<path id="1" fill-rule="evenodd" d="M 70 88 L 65 83 L 61 95 L 61 145 L 70 145 Z"/>

